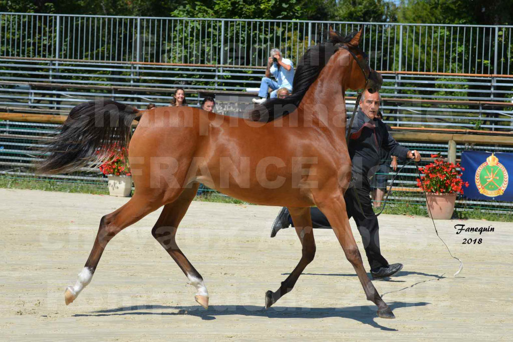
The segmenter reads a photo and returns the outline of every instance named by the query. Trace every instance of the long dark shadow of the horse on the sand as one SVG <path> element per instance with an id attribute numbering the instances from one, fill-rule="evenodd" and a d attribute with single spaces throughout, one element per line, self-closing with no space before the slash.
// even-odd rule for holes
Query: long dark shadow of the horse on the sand
<path id="1" fill-rule="evenodd" d="M 403 303 L 396 301 L 389 303 L 392 310 L 404 307 L 425 306 L 429 303 Z M 148 311 L 150 310 L 150 311 Z M 167 311 L 169 310 L 169 311 Z M 399 310 L 400 316 L 401 310 Z M 367 324 L 373 328 L 379 328 L 386 331 L 397 331 L 378 324 L 374 318 L 378 318 L 376 307 L 373 306 L 352 306 L 344 308 L 308 308 L 308 307 L 271 307 L 266 310 L 260 306 L 254 305 L 211 305 L 208 310 L 199 306 L 165 306 L 165 305 L 142 305 L 119 307 L 115 309 L 97 310 L 91 314 L 75 314 L 73 317 L 89 317 L 89 316 L 124 316 L 124 315 L 191 315 L 204 320 L 213 320 L 217 316 L 225 315 L 243 315 L 254 317 L 268 318 L 329 318 L 340 317 L 358 320 L 363 324 Z M 380 319 L 380 323 L 384 322 Z"/>

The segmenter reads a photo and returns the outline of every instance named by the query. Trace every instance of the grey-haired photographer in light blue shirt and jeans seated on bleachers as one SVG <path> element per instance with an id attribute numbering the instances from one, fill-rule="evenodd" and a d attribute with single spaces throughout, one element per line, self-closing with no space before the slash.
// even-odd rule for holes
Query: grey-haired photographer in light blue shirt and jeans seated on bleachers
<path id="1" fill-rule="evenodd" d="M 271 75 L 276 79 L 271 79 Z M 294 65 L 292 61 L 283 58 L 280 50 L 272 49 L 271 56 L 267 61 L 267 69 L 265 70 L 265 77 L 262 77 L 260 84 L 260 91 L 258 95 L 260 98 L 253 98 L 253 103 L 261 105 L 267 99 L 269 88 L 272 89 L 271 98 L 278 97 L 278 89 L 285 88 L 292 92 L 292 81 L 294 79 Z"/>

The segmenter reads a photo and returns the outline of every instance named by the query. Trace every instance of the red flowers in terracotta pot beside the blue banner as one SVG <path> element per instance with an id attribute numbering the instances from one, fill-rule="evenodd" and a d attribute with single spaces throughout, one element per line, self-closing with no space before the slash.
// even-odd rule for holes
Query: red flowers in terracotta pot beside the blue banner
<path id="1" fill-rule="evenodd" d="M 461 180 L 460 164 L 444 162 L 439 154 L 431 154 L 434 162 L 419 168 L 424 176 L 417 178 L 417 186 L 424 189 L 427 197 L 429 217 L 433 219 L 450 219 L 456 203 L 456 195 L 463 193 L 463 186 L 468 182 Z M 459 171 L 460 169 L 461 171 Z"/>

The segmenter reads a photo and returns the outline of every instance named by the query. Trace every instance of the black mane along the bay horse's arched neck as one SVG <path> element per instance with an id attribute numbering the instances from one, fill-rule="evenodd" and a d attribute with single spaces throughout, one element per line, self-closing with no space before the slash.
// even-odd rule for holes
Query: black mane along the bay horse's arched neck
<path id="1" fill-rule="evenodd" d="M 285 98 L 268 99 L 262 105 L 249 112 L 249 118 L 253 121 L 271 122 L 281 116 L 285 116 L 298 108 L 303 96 L 310 85 L 317 79 L 321 70 L 328 63 L 329 58 L 340 48 L 339 43 L 349 43 L 358 32 L 350 33 L 343 37 L 338 33 L 331 34 L 328 41 L 310 47 L 301 57 L 295 68 L 292 94 Z"/>

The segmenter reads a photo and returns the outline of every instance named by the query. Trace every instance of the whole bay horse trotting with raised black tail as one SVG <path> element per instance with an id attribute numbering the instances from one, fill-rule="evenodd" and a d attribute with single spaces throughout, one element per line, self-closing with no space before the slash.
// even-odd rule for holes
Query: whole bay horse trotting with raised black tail
<path id="1" fill-rule="evenodd" d="M 203 277 L 175 241 L 199 184 L 246 202 L 288 207 L 302 244 L 298 265 L 280 288 L 265 294 L 269 308 L 291 291 L 315 255 L 309 208 L 328 218 L 354 267 L 366 298 L 378 315 L 394 318 L 367 276 L 346 213 L 344 192 L 351 178 L 345 140 L 346 89 L 378 91 L 383 82 L 359 48 L 362 30 L 307 50 L 298 64 L 293 93 L 270 99 L 245 118 L 198 108 L 160 107 L 139 112 L 114 101 L 74 107 L 47 148 L 39 172 L 76 170 L 105 160 L 109 146 L 128 146 L 135 191 L 128 203 L 103 216 L 89 258 L 66 305 L 87 286 L 108 242 L 126 227 L 164 206 L 151 233 L 196 288 L 195 300 L 208 308 Z M 131 136 L 131 123 L 139 125 Z"/>

